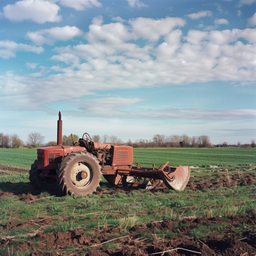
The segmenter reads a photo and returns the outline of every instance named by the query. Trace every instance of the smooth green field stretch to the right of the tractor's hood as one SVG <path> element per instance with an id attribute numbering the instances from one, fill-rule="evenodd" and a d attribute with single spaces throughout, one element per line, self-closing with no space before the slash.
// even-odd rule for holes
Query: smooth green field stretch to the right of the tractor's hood
<path id="1" fill-rule="evenodd" d="M 171 166 L 188 165 L 202 168 L 214 166 L 256 164 L 255 148 L 174 148 L 133 149 L 134 162 Z M 150 165 L 149 165 L 150 166 Z"/>

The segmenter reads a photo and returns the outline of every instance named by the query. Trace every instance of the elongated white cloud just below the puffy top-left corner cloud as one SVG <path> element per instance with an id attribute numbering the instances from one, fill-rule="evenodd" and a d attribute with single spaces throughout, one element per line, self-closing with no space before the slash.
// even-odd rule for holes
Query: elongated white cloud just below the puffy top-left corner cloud
<path id="1" fill-rule="evenodd" d="M 56 41 L 68 41 L 73 37 L 81 36 L 83 31 L 75 26 L 54 27 L 36 32 L 28 32 L 26 37 L 37 45 L 54 44 Z"/>

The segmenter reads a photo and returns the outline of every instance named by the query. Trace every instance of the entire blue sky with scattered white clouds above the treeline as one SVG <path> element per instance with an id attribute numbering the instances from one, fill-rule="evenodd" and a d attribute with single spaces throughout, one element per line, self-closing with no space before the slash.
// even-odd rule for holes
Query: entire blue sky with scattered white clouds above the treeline
<path id="1" fill-rule="evenodd" d="M 256 0 L 0 4 L 0 132 L 256 140 Z"/>

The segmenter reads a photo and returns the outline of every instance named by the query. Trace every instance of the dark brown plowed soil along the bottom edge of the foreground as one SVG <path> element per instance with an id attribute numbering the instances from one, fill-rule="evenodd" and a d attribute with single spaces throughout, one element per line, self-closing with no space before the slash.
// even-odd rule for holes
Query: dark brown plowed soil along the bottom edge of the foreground
<path id="1" fill-rule="evenodd" d="M 36 222 L 26 221 L 23 223 L 9 222 L 3 229 L 21 228 L 29 226 L 50 225 L 51 219 L 38 219 Z M 191 230 L 199 226 L 209 226 L 211 223 L 229 226 L 226 231 L 218 232 L 218 236 L 211 234 L 204 238 L 191 237 Z M 221 218 L 182 220 L 179 223 L 173 221 L 159 221 L 135 226 L 120 234 L 118 229 L 100 231 L 73 230 L 66 233 L 44 234 L 38 232 L 33 235 L 37 242 L 21 242 L 13 246 L 14 252 L 33 250 L 30 256 L 57 256 L 57 255 L 223 255 L 245 256 L 256 254 L 256 234 L 244 232 L 237 236 L 234 227 L 238 223 L 256 225 L 255 216 L 235 217 L 222 221 Z M 178 225 L 178 226 L 177 226 Z M 171 231 L 172 235 L 160 238 L 156 230 Z M 147 237 L 145 236 L 147 235 Z M 226 238 L 221 239 L 220 235 Z M 32 235 L 31 235 L 32 236 Z M 120 237 L 120 238 L 119 238 Z M 118 238 L 118 239 L 116 239 Z M 11 241 L 11 238 L 9 238 Z M 113 241 L 110 241 L 112 240 Z M 5 246 L 8 239 L 3 239 L 0 248 Z M 35 240 L 34 240 L 35 241 Z M 108 242 L 110 241 L 110 242 Z M 107 243 L 106 243 L 107 242 Z M 112 247 L 110 246 L 112 245 Z M 113 249 L 116 245 L 116 249 Z M 68 253 L 67 246 L 72 248 Z M 179 249 L 178 249 L 179 248 Z M 48 250 L 47 250 L 48 249 Z M 49 252 L 51 249 L 51 252 Z M 173 250 L 176 249 L 176 250 Z M 45 252 L 47 250 L 47 252 Z M 57 253 L 58 250 L 58 253 Z M 173 250 L 173 251 L 170 251 Z M 189 251 L 187 251 L 189 250 Z M 169 251 L 169 252 L 167 252 Z M 192 252 L 191 252 L 192 251 Z M 158 253 L 158 254 L 156 254 Z M 3 254 L 2 254 L 3 255 Z"/>

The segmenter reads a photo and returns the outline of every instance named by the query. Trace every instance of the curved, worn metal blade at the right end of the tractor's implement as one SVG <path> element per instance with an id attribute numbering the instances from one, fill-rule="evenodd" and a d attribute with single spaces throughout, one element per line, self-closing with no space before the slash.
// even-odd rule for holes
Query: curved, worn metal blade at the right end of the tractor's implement
<path id="1" fill-rule="evenodd" d="M 190 177 L 189 166 L 171 167 L 170 169 L 170 172 L 158 170 L 159 176 L 168 188 L 184 190 Z"/>

